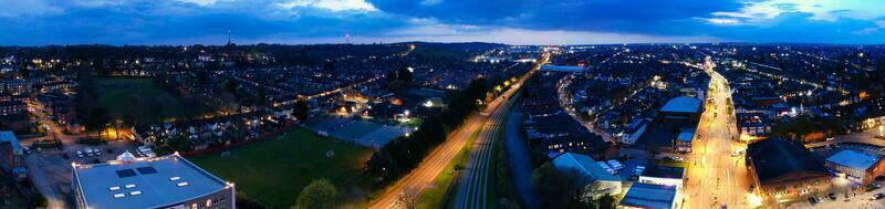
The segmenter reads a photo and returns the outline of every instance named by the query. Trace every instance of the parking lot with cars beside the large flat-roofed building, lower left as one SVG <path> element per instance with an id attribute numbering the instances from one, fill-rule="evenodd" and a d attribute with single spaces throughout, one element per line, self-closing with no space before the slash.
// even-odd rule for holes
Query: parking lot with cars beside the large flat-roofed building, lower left
<path id="1" fill-rule="evenodd" d="M 29 140 L 22 140 L 23 146 L 30 146 Z M 31 150 L 25 158 L 28 176 L 34 186 L 50 201 L 50 208 L 70 208 L 71 201 L 71 164 L 104 163 L 116 158 L 123 151 L 136 153 L 136 146 L 129 140 L 112 140 L 106 145 L 82 145 L 72 140 L 62 140 L 63 148 L 49 148 Z M 101 155 L 88 156 L 86 149 L 100 150 Z M 82 151 L 83 157 L 77 156 Z"/>

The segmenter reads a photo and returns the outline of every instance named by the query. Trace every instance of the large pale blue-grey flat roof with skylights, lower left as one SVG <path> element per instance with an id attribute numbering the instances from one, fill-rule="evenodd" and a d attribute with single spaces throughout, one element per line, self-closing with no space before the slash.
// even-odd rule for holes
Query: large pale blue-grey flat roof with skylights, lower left
<path id="1" fill-rule="evenodd" d="M 74 165 L 73 169 L 88 208 L 168 207 L 228 186 L 178 155 Z"/>

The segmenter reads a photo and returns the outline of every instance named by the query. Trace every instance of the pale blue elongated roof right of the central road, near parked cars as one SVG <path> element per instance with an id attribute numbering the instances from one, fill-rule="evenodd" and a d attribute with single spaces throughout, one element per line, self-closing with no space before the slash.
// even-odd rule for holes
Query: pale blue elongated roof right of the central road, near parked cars
<path id="1" fill-rule="evenodd" d="M 553 159 L 553 166 L 558 169 L 575 169 L 581 174 L 587 175 L 592 180 L 621 181 L 621 178 L 608 174 L 596 164 L 590 156 L 581 154 L 565 153 Z"/>

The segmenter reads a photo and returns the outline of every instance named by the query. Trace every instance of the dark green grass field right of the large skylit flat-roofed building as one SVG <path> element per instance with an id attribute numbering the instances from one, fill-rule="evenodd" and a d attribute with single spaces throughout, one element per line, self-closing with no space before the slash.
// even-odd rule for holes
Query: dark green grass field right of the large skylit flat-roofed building
<path id="1" fill-rule="evenodd" d="M 327 150 L 335 155 L 326 157 Z M 301 189 L 313 179 L 332 180 L 340 194 L 352 188 L 367 188 L 362 170 L 371 155 L 371 149 L 298 128 L 231 149 L 226 156 L 214 153 L 189 159 L 209 173 L 233 181 L 238 192 L 246 192 L 272 208 L 289 208 L 294 205 Z"/>

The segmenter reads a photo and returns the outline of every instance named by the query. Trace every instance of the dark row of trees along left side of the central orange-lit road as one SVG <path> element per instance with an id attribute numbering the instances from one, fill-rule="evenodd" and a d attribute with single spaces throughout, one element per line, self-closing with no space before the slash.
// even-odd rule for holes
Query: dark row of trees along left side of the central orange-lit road
<path id="1" fill-rule="evenodd" d="M 455 93 L 441 114 L 424 119 L 410 136 L 399 137 L 382 147 L 366 161 L 367 175 L 385 185 L 418 166 L 424 157 L 446 140 L 452 128 L 479 109 L 490 91 L 489 81 L 477 79 L 468 87 Z"/>

